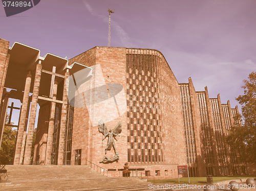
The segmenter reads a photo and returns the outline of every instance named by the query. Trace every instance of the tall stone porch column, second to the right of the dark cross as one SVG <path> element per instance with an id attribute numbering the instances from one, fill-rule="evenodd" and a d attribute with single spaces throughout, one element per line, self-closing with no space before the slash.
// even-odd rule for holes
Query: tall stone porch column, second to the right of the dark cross
<path id="1" fill-rule="evenodd" d="M 25 148 L 24 164 L 30 164 L 41 72 L 42 72 L 42 64 L 41 64 L 41 60 L 39 60 L 38 64 L 36 65 L 36 71 L 35 71 L 35 80 L 34 80 L 33 96 L 32 96 L 32 101 L 31 101 L 31 109 L 30 109 L 28 135 L 27 135 L 26 148 Z"/>

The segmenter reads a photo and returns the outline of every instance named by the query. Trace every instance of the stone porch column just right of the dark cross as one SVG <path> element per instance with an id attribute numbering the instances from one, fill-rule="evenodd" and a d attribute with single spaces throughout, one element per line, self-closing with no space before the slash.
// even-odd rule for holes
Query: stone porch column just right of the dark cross
<path id="1" fill-rule="evenodd" d="M 22 153 L 24 128 L 25 128 L 27 109 L 28 109 L 28 103 L 29 103 L 29 90 L 31 85 L 31 77 L 32 77 L 31 72 L 29 71 L 29 74 L 27 75 L 26 83 L 25 83 L 22 110 L 20 111 L 20 120 L 18 124 L 17 141 L 16 141 L 16 148 L 15 148 L 15 155 L 14 155 L 14 162 L 13 162 L 14 165 L 21 164 L 20 154 Z"/>

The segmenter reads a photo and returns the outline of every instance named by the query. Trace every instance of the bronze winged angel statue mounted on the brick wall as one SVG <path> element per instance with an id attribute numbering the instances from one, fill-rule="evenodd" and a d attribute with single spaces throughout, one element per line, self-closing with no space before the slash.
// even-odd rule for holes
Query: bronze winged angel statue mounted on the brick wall
<path id="1" fill-rule="evenodd" d="M 104 122 L 102 120 L 99 121 L 99 132 L 102 133 L 102 135 L 104 136 L 104 138 L 102 140 L 104 140 L 106 137 L 108 137 L 108 144 L 106 145 L 105 148 L 105 154 L 107 151 L 110 151 L 111 148 L 114 148 L 115 154 L 117 153 L 116 151 L 116 147 L 115 147 L 115 142 L 114 142 L 114 138 L 116 136 L 120 136 L 118 135 L 119 133 L 122 132 L 122 123 L 119 122 L 116 127 L 114 128 L 114 130 L 112 131 L 112 129 L 110 129 L 108 131 L 108 128 L 106 128 Z M 116 138 L 115 138 L 116 139 Z"/>

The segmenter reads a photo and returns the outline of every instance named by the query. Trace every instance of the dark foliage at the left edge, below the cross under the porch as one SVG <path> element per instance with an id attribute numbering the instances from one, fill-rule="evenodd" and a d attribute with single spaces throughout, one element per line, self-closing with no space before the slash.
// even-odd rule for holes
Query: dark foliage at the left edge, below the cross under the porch
<path id="1" fill-rule="evenodd" d="M 16 130 L 6 126 L 3 133 L 3 141 L 0 150 L 0 161 L 2 164 L 12 164 L 15 152 Z"/>

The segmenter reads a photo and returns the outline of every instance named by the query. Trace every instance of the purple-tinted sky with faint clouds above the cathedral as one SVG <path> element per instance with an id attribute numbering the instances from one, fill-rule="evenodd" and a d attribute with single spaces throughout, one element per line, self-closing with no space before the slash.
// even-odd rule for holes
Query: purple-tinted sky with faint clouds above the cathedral
<path id="1" fill-rule="evenodd" d="M 191 77 L 196 91 L 239 104 L 256 71 L 254 0 L 42 0 L 10 17 L 0 4 L 0 38 L 70 59 L 108 45 L 109 8 L 111 46 L 156 49 L 179 83 Z"/>

